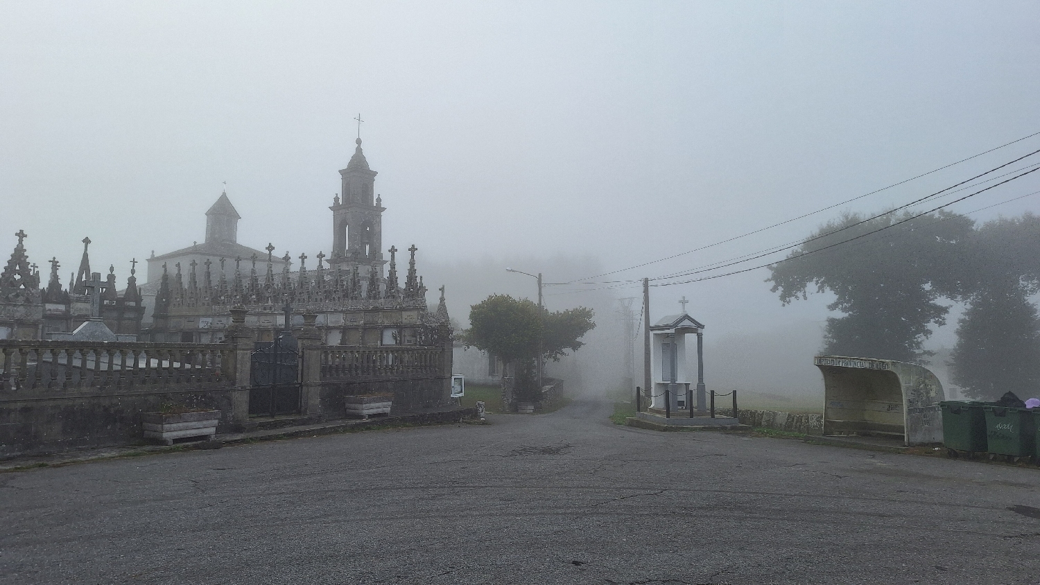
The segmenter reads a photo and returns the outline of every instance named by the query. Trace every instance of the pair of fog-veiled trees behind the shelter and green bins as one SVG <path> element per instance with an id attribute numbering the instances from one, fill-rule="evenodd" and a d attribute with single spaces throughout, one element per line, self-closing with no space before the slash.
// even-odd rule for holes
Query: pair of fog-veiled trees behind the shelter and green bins
<path id="1" fill-rule="evenodd" d="M 843 316 L 827 319 L 823 349 L 832 355 L 927 363 L 933 352 L 922 344 L 950 311 L 940 300 L 964 302 L 954 383 L 981 399 L 1040 394 L 1040 319 L 1030 300 L 1040 287 L 1040 217 L 977 227 L 940 211 L 866 235 L 910 217 L 844 214 L 770 267 L 766 282 L 784 304 L 811 290 L 835 295 L 828 309 Z"/>

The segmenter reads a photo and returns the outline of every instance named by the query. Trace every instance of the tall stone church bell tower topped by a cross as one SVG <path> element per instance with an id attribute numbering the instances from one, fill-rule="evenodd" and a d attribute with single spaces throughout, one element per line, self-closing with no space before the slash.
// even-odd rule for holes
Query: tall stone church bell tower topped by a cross
<path id="1" fill-rule="evenodd" d="M 358 266 L 361 274 L 378 271 L 383 277 L 383 212 L 382 198 L 373 200 L 375 175 L 361 151 L 361 138 L 342 178 L 342 198 L 333 200 L 332 257 L 329 263 L 350 270 Z"/>

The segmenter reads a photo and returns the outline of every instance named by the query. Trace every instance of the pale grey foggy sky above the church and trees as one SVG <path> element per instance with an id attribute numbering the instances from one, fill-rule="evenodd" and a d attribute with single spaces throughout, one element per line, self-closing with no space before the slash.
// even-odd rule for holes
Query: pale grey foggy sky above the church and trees
<path id="1" fill-rule="evenodd" d="M 360 112 L 386 246 L 419 247 L 461 326 L 489 294 L 536 297 L 508 266 L 601 283 L 547 286 L 545 300 L 596 310 L 588 346 L 560 367 L 606 391 L 621 376 L 616 299 L 641 296 L 634 281 L 1040 148 L 654 262 L 1040 131 L 1038 18 L 1035 2 L 5 2 L 0 245 L 25 230 L 30 259 L 56 257 L 64 283 L 89 236 L 95 270 L 124 282 L 132 258 L 201 241 L 226 188 L 240 243 L 328 252 Z M 948 209 L 1040 211 L 1036 197 L 982 209 L 1040 190 L 1038 175 Z M 815 396 L 830 295 L 782 307 L 768 275 L 654 287 L 652 320 L 691 300 L 709 389 Z M 956 313 L 948 323 L 929 348 L 955 343 Z"/>

